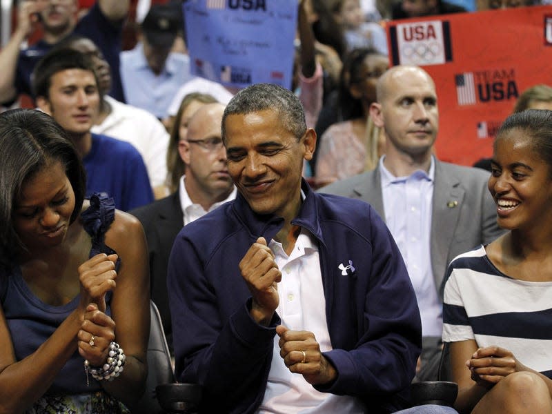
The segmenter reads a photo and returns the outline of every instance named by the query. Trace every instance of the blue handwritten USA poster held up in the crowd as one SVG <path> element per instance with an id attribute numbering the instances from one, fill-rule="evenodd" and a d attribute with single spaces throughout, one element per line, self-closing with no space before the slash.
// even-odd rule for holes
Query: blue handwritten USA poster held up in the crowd
<path id="1" fill-rule="evenodd" d="M 193 75 L 233 88 L 291 88 L 297 0 L 188 0 L 183 8 Z"/>

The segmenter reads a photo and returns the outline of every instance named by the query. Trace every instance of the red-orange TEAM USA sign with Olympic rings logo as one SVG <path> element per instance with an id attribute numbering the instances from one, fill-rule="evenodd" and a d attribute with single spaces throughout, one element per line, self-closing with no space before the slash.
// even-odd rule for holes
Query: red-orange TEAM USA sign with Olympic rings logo
<path id="1" fill-rule="evenodd" d="M 473 165 L 530 86 L 552 86 L 552 6 L 445 14 L 387 24 L 390 59 L 435 81 L 437 157 Z"/>

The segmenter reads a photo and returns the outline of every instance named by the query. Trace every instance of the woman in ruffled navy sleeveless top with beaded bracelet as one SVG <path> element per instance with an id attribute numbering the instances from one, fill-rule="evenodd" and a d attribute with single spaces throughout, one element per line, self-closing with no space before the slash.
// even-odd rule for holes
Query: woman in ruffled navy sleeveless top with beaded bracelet
<path id="1" fill-rule="evenodd" d="M 144 392 L 144 231 L 85 184 L 51 117 L 0 114 L 2 412 L 124 413 Z"/>

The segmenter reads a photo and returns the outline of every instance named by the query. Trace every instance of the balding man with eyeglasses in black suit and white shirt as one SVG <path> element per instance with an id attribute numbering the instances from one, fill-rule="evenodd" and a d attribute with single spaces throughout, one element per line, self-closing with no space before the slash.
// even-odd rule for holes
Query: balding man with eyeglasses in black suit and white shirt
<path id="1" fill-rule="evenodd" d="M 132 210 L 146 232 L 150 252 L 151 297 L 159 308 L 169 348 L 172 328 L 166 287 L 167 264 L 172 242 L 183 225 L 235 198 L 236 190 L 226 168 L 221 138 L 224 105 L 201 106 L 188 121 L 179 153 L 185 164 L 179 190 L 148 206 Z"/>

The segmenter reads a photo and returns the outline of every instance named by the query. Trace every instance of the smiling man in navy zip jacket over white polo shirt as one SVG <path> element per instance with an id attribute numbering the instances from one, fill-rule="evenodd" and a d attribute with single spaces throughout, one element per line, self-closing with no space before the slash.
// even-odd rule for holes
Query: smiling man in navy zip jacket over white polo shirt
<path id="1" fill-rule="evenodd" d="M 204 386 L 206 412 L 407 406 L 420 313 L 382 219 L 302 180 L 316 135 L 290 91 L 238 92 L 222 137 L 237 198 L 184 227 L 169 260 L 178 380 Z"/>

